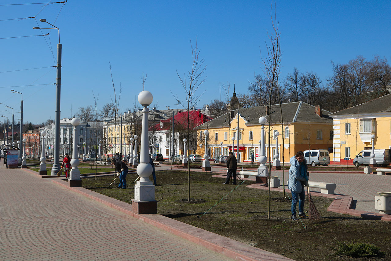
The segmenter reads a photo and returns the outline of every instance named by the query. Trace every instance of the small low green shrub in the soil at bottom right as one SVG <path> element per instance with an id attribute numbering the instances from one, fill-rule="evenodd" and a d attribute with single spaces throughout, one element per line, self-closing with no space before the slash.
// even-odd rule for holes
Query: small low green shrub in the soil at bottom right
<path id="1" fill-rule="evenodd" d="M 350 257 L 383 257 L 384 252 L 377 246 L 365 243 L 337 242 L 338 247 L 334 250 L 336 255 L 346 255 Z"/>

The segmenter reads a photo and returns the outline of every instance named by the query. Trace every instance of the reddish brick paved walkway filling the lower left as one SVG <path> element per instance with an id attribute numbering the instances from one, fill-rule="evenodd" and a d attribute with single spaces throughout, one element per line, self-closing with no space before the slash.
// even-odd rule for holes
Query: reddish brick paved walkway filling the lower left
<path id="1" fill-rule="evenodd" d="M 231 260 L 50 181 L 0 168 L 1 260 Z"/>

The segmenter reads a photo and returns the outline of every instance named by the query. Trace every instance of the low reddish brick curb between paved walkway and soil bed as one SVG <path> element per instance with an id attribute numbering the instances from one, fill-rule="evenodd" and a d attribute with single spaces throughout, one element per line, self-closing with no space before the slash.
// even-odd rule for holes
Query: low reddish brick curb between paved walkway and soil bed
<path id="1" fill-rule="evenodd" d="M 30 170 L 32 171 L 32 170 Z M 30 172 L 29 171 L 29 172 Z M 81 194 L 87 198 L 98 201 L 110 208 L 114 208 L 124 214 L 135 217 L 154 227 L 165 230 L 171 234 L 182 237 L 197 245 L 203 246 L 226 257 L 241 261 L 260 261 L 260 260 L 293 260 L 272 252 L 246 245 L 242 242 L 220 236 L 218 234 L 206 231 L 202 228 L 188 225 L 181 221 L 171 219 L 159 214 L 139 215 L 131 211 L 132 205 L 119 201 L 117 199 L 104 196 L 97 192 L 83 187 L 69 187 L 68 182 L 62 179 L 52 179 L 53 183 L 65 187 L 73 192 Z"/>

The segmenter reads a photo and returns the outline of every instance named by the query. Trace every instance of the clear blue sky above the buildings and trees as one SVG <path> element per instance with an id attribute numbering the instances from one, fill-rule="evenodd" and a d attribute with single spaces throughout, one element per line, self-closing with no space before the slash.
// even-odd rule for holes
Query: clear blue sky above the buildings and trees
<path id="1" fill-rule="evenodd" d="M 0 4 L 34 2 L 45 1 Z M 142 91 L 143 73 L 147 74 L 145 89 L 154 96 L 152 104 L 160 109 L 176 107 L 170 91 L 185 100 L 176 71 L 183 75 L 191 69 L 190 40 L 198 38 L 207 76 L 201 85 L 201 91 L 206 91 L 197 106 L 201 107 L 220 98 L 221 83 L 235 84 L 237 92 L 244 93 L 248 81 L 262 74 L 260 51 L 265 52 L 267 30 L 271 29 L 270 6 L 271 1 L 264 0 L 68 0 L 65 5 L 45 8 L 43 4 L 0 6 L 1 20 L 36 16 L 0 21 L 1 38 L 46 34 L 49 30 L 32 27 L 50 27 L 39 19 L 53 24 L 57 18 L 63 45 L 61 118 L 71 116 L 71 107 L 75 114 L 80 106 L 93 105 L 92 91 L 99 94 L 99 109 L 110 101 L 109 62 L 116 87 L 122 85 L 121 111 L 140 106 L 136 96 Z M 347 63 L 357 55 L 371 60 L 376 54 L 390 60 L 390 14 L 390 1 L 277 1 L 281 76 L 297 67 L 302 72 L 316 72 L 325 84 L 332 75 L 331 60 Z M 56 88 L 49 83 L 56 82 L 56 69 L 50 66 L 56 64 L 52 51 L 56 57 L 57 42 L 56 30 L 50 31 L 50 37 L 0 39 L 0 102 L 14 107 L 17 114 L 21 97 L 10 90 L 22 92 L 24 121 L 54 119 Z M 4 72 L 37 67 L 49 68 Z M 7 87 L 35 84 L 49 85 Z M 0 105 L 0 111 L 3 108 Z M 18 118 L 15 116 L 16 121 Z"/>

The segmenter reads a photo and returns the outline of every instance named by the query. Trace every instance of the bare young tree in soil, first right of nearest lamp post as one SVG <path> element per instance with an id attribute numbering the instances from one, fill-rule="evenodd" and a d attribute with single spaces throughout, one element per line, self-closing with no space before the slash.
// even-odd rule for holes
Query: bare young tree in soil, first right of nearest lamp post
<path id="1" fill-rule="evenodd" d="M 178 75 L 179 82 L 181 83 L 183 89 L 186 93 L 186 103 L 181 102 L 176 96 L 176 100 L 179 104 L 181 104 L 184 108 L 187 108 L 187 126 L 190 125 L 190 108 L 195 106 L 199 100 L 201 99 L 202 94 L 200 93 L 200 85 L 205 82 L 206 76 L 203 74 L 206 69 L 206 65 L 204 65 L 204 59 L 199 57 L 199 49 L 197 47 L 197 40 L 195 41 L 195 46 L 193 47 L 192 42 L 190 40 L 190 47 L 192 49 L 192 68 L 188 71 L 187 74 L 184 74 L 182 77 L 179 75 L 178 71 L 176 74 Z M 173 94 L 174 95 L 174 94 Z M 174 95 L 175 96 L 175 95 Z M 187 136 L 190 137 L 190 132 L 194 131 L 187 128 Z M 188 152 L 190 155 L 190 146 L 188 148 Z M 188 164 L 188 201 L 190 201 L 190 164 Z"/>

